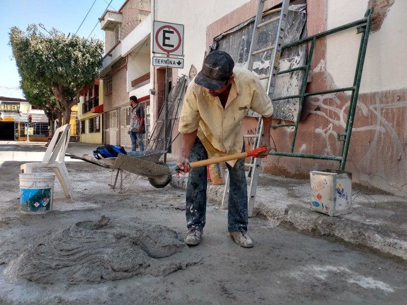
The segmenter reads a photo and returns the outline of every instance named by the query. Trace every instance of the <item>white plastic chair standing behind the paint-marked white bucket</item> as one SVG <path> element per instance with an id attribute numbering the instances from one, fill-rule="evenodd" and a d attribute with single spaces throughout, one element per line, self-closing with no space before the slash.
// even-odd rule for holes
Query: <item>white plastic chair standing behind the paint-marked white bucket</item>
<path id="1" fill-rule="evenodd" d="M 22 173 L 32 173 L 34 168 L 50 167 L 55 172 L 61 187 L 64 190 L 65 197 L 73 201 L 72 187 L 69 181 L 67 167 L 65 166 L 65 152 L 68 148 L 69 138 L 71 136 L 70 124 L 66 124 L 55 130 L 52 140 L 45 151 L 42 162 L 25 163 L 21 165 Z"/>

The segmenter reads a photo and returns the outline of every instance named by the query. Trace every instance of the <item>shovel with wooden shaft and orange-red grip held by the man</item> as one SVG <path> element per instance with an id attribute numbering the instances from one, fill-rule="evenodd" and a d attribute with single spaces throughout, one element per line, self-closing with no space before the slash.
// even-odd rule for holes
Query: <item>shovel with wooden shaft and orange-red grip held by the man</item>
<path id="1" fill-rule="evenodd" d="M 224 161 L 231 161 L 246 157 L 255 157 L 257 154 L 266 151 L 267 147 L 259 147 L 251 151 L 246 151 L 245 153 L 228 155 L 223 157 L 211 158 L 207 160 L 201 160 L 189 163 L 191 168 L 196 168 L 200 166 L 207 166 L 210 164 L 215 164 Z M 180 168 L 176 164 L 156 164 L 149 161 L 132 158 L 130 156 L 119 154 L 118 158 L 114 163 L 114 167 L 124 169 L 126 171 L 132 172 L 134 174 L 145 176 L 148 178 L 162 179 L 165 176 L 171 175 Z"/>

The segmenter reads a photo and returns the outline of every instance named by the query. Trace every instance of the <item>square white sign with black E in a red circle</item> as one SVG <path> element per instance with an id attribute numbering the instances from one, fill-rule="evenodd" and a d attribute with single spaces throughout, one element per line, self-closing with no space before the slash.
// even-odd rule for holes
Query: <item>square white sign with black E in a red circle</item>
<path id="1" fill-rule="evenodd" d="M 184 25 L 154 21 L 153 53 L 184 56 Z"/>

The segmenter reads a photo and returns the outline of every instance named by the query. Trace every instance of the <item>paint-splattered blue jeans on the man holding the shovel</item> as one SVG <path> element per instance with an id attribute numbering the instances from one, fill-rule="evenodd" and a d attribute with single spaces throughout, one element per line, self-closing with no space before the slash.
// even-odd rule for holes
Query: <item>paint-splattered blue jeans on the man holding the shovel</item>
<path id="1" fill-rule="evenodd" d="M 245 151 L 243 143 L 242 151 Z M 208 154 L 196 138 L 189 153 L 189 161 L 208 159 Z M 245 175 L 245 159 L 239 159 L 234 167 L 226 163 L 229 171 L 229 202 L 227 210 L 227 230 L 229 232 L 247 232 L 247 183 Z M 186 218 L 188 230 L 201 230 L 206 223 L 207 207 L 207 167 L 191 168 L 188 174 L 186 196 Z"/>

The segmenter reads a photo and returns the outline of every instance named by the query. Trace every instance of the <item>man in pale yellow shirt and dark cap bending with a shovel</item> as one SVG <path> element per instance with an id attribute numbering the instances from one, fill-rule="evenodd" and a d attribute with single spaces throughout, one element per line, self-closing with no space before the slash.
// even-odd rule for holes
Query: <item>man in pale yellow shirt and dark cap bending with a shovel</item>
<path id="1" fill-rule="evenodd" d="M 235 67 L 230 55 L 213 51 L 202 70 L 188 85 L 181 112 L 179 132 L 183 134 L 177 165 L 181 174 L 189 172 L 186 194 L 187 245 L 200 242 L 205 227 L 207 169 L 191 169 L 191 161 L 238 154 L 245 151 L 243 119 L 249 109 L 263 116 L 264 137 L 259 146 L 269 154 L 273 105 L 260 80 L 250 71 Z M 245 248 L 253 247 L 247 236 L 247 185 L 244 158 L 226 162 L 229 172 L 228 235 Z M 177 177 L 179 177 L 177 172 Z"/>

